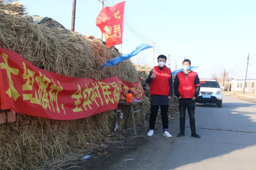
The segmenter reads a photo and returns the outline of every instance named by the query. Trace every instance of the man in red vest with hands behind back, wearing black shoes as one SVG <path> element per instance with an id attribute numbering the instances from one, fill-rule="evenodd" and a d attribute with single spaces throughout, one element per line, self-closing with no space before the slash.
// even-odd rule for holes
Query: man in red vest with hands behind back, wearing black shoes
<path id="1" fill-rule="evenodd" d="M 195 99 L 199 95 L 200 81 L 196 72 L 190 70 L 191 62 L 185 59 L 182 62 L 183 71 L 177 73 L 174 79 L 174 93 L 179 99 L 179 124 L 180 133 L 177 137 L 185 135 L 185 115 L 188 108 L 191 136 L 201 138 L 196 133 L 195 125 Z"/>

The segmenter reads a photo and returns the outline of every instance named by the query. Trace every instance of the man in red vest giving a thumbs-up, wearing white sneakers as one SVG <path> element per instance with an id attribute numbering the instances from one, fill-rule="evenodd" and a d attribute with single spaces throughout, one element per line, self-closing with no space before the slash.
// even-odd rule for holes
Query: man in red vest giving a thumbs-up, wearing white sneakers
<path id="1" fill-rule="evenodd" d="M 147 136 L 154 135 L 156 116 L 158 108 L 161 109 L 161 118 L 163 124 L 163 136 L 168 138 L 172 135 L 168 132 L 168 108 L 169 99 L 172 98 L 172 72 L 165 66 L 166 56 L 157 57 L 158 66 L 155 66 L 148 75 L 146 83 L 150 84 L 149 94 L 151 95 L 151 114 L 149 118 L 149 132 Z"/>

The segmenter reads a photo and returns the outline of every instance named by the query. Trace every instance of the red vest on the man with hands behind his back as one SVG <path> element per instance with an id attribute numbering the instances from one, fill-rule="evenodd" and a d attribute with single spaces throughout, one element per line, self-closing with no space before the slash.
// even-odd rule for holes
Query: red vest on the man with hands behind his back
<path id="1" fill-rule="evenodd" d="M 179 72 L 177 76 L 179 79 L 178 92 L 180 97 L 193 98 L 195 96 L 196 86 L 200 85 L 195 85 L 197 73 L 190 71 L 186 76 L 186 74 Z"/>

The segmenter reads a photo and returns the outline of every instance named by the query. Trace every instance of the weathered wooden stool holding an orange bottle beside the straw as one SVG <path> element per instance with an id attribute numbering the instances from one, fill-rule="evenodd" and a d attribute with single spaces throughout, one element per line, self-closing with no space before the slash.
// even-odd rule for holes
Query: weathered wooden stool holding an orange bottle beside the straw
<path id="1" fill-rule="evenodd" d="M 143 115 L 144 131 L 146 132 L 145 112 L 144 112 L 144 109 L 142 108 L 142 103 L 144 103 L 144 101 L 132 102 L 132 103 L 127 103 L 127 102 L 121 102 L 121 101 L 120 101 L 120 102 L 118 103 L 119 105 L 121 105 L 120 110 L 121 110 L 122 106 L 130 106 L 130 109 L 129 109 L 129 112 L 128 112 L 129 115 L 128 115 L 128 118 L 127 118 L 126 123 L 125 123 L 125 128 L 127 129 L 128 120 L 129 120 L 129 118 L 130 118 L 130 115 L 132 115 L 134 136 L 137 136 L 134 113 L 138 113 L 138 112 L 141 112 L 141 113 L 142 113 L 142 115 Z M 134 109 L 133 109 L 133 106 L 136 105 L 136 104 L 140 104 L 140 109 L 139 109 L 139 110 L 134 110 Z M 121 110 L 121 111 L 122 111 L 122 110 Z M 116 122 L 118 122 L 119 117 L 120 117 L 120 112 L 117 112 L 117 115 L 116 115 Z"/>

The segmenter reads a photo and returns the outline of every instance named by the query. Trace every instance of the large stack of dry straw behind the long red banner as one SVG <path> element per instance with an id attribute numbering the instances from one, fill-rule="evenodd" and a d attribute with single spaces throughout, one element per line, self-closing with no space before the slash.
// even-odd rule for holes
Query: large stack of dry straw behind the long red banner
<path id="1" fill-rule="evenodd" d="M 118 75 L 118 66 L 98 71 L 105 61 L 120 55 L 115 48 L 53 24 L 36 25 L 21 3 L 0 4 L 0 47 L 65 76 L 100 80 Z M 121 63 L 121 79 L 133 82 L 138 76 L 130 60 Z M 147 97 L 144 100 L 148 117 L 150 103 Z M 69 121 L 17 114 L 16 122 L 0 125 L 0 169 L 35 169 L 73 153 L 76 146 L 99 144 L 113 131 L 115 119 L 114 111 Z"/>

